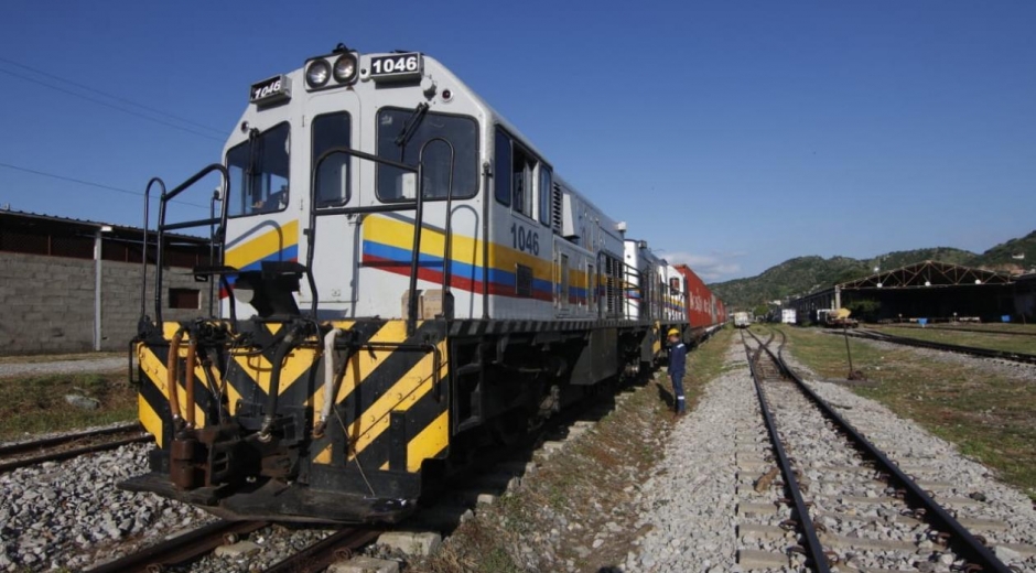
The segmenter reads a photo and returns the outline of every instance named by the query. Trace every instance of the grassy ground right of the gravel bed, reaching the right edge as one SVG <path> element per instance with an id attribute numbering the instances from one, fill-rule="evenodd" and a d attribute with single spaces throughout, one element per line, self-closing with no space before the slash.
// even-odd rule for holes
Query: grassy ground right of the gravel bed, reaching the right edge
<path id="1" fill-rule="evenodd" d="M 791 354 L 824 378 L 844 378 L 841 336 L 783 328 Z M 996 469 L 1000 477 L 1036 499 L 1036 383 L 1008 378 L 953 359 L 909 348 L 882 349 L 850 338 L 853 363 L 876 388 L 853 388 L 897 415 L 914 420 L 957 444 L 961 453 Z"/>

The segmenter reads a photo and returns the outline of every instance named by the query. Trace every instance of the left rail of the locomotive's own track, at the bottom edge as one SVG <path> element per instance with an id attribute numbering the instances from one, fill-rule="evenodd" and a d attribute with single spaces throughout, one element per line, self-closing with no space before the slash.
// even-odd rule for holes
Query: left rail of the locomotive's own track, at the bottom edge
<path id="1" fill-rule="evenodd" d="M 130 553 L 85 573 L 158 573 L 166 566 L 185 563 L 211 553 L 230 538 L 251 533 L 267 521 L 216 521 Z"/>

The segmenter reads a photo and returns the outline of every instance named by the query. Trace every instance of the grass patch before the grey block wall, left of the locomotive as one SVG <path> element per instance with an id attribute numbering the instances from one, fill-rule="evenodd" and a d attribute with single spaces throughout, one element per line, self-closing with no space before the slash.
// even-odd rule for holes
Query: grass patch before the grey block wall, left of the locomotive
<path id="1" fill-rule="evenodd" d="M 77 393 L 100 402 L 96 410 L 68 404 Z M 137 417 L 137 391 L 126 374 L 47 375 L 0 380 L 0 441 L 32 434 L 125 422 Z"/>

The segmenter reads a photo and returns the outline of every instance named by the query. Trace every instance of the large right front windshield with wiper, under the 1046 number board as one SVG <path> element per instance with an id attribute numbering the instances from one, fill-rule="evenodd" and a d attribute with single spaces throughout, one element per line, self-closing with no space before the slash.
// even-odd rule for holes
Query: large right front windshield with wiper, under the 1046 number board
<path id="1" fill-rule="evenodd" d="M 400 129 L 413 110 L 382 109 L 378 113 L 378 155 L 417 166 L 421 147 L 442 138 L 453 144 L 453 198 L 471 198 L 478 192 L 478 126 L 472 118 L 428 112 L 413 136 L 402 147 L 396 143 Z M 378 165 L 378 198 L 385 202 L 410 199 L 400 185 L 402 171 Z M 450 187 L 450 149 L 432 142 L 424 151 L 424 198 L 444 199 Z"/>

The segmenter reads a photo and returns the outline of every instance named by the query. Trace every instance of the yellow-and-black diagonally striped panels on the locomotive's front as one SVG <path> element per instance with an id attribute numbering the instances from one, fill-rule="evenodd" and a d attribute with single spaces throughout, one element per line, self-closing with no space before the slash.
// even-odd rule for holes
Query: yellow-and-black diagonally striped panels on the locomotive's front
<path id="1" fill-rule="evenodd" d="M 449 355 L 441 323 L 419 323 L 410 337 L 406 323 L 398 320 L 341 321 L 324 326 L 346 334 L 334 353 L 341 377 L 336 378 L 335 406 L 320 437 L 312 430 L 324 407 L 324 368 L 332 357 L 322 356 L 322 340 L 313 336 L 295 347 L 281 366 L 278 414 L 301 412 L 307 424 L 300 478 L 335 482 L 335 474 L 342 474 L 343 479 L 354 473 L 368 479 L 379 472 L 414 474 L 425 460 L 444 457 L 450 428 Z M 176 323 L 164 325 L 164 345 L 137 346 L 142 374 L 140 420 L 163 450 L 170 446 L 173 428 L 169 342 L 180 327 Z M 262 324 L 251 333 L 249 346 L 213 348 L 198 340 L 193 404 L 197 428 L 219 422 L 220 403 L 224 418 L 265 407 L 274 369 L 274 343 L 282 327 L 280 323 Z M 188 408 L 183 386 L 186 342 L 179 352 L 176 394 L 182 412 Z"/>

